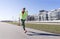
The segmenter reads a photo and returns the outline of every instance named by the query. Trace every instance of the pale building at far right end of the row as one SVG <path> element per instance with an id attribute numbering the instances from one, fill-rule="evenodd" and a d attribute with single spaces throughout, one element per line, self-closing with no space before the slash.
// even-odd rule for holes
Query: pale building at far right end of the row
<path id="1" fill-rule="evenodd" d="M 48 13 L 49 20 L 60 20 L 60 8 L 51 10 Z"/>

